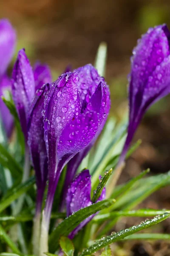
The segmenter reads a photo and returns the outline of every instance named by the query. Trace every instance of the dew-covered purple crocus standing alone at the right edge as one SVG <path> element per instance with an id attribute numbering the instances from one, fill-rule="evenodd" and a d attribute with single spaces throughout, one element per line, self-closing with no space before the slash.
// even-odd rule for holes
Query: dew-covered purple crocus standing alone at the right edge
<path id="1" fill-rule="evenodd" d="M 119 164 L 144 113 L 170 93 L 170 32 L 166 25 L 147 31 L 133 50 L 129 84 L 129 126 Z"/>

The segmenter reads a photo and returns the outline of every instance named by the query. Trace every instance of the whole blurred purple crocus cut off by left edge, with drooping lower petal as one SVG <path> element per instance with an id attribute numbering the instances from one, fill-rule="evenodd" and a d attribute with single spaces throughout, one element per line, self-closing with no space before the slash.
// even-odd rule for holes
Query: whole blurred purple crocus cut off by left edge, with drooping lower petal
<path id="1" fill-rule="evenodd" d="M 0 20 L 0 97 L 11 89 L 11 81 L 6 75 L 16 44 L 16 33 L 8 20 Z M 11 135 L 13 118 L 0 98 L 0 114 L 8 137 Z"/>

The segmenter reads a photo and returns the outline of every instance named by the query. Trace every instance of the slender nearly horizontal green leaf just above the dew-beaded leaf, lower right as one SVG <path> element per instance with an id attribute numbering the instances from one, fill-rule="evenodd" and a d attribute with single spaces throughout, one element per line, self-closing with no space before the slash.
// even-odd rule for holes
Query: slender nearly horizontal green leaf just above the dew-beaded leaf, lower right
<path id="1" fill-rule="evenodd" d="M 153 217 L 157 214 L 164 214 L 169 210 L 140 209 L 131 211 L 113 211 L 105 214 L 98 214 L 93 218 L 93 222 L 103 222 L 115 217 Z"/>

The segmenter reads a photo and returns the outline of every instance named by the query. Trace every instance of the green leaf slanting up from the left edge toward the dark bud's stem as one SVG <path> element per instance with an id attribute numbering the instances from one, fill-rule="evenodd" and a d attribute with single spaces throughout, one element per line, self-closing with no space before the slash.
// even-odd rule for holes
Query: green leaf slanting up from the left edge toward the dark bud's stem
<path id="1" fill-rule="evenodd" d="M 14 200 L 24 194 L 28 189 L 31 188 L 35 183 L 35 177 L 29 178 L 25 183 L 20 183 L 17 186 L 14 186 L 12 189 L 8 190 L 7 195 L 5 195 L 0 201 L 0 212 L 2 212 L 6 207 L 8 207 Z"/>

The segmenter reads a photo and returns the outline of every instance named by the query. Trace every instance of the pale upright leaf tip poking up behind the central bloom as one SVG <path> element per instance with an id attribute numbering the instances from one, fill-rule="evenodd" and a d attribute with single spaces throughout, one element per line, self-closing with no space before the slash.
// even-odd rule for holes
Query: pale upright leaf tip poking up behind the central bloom
<path id="1" fill-rule="evenodd" d="M 98 71 L 100 76 L 105 76 L 105 67 L 107 60 L 107 44 L 102 42 L 99 44 L 99 48 L 96 55 L 94 67 Z"/>

